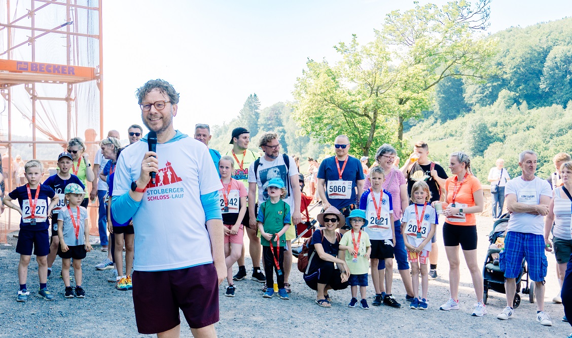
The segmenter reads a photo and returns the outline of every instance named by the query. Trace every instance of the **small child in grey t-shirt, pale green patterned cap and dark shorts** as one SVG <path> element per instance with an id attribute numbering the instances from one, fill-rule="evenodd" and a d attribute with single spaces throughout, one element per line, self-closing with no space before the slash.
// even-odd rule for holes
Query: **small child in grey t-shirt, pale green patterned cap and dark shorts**
<path id="1" fill-rule="evenodd" d="M 67 206 L 58 213 L 58 256 L 62 258 L 62 278 L 66 287 L 64 297 L 74 296 L 74 289 L 70 285 L 70 259 L 73 259 L 73 272 L 76 276 L 75 296 L 84 298 L 85 291 L 81 287 L 81 260 L 92 250 L 92 245 L 89 244 L 89 226 L 86 226 L 88 210 L 80 205 L 84 201 L 85 191 L 80 185 L 70 183 L 64 193 Z"/>

